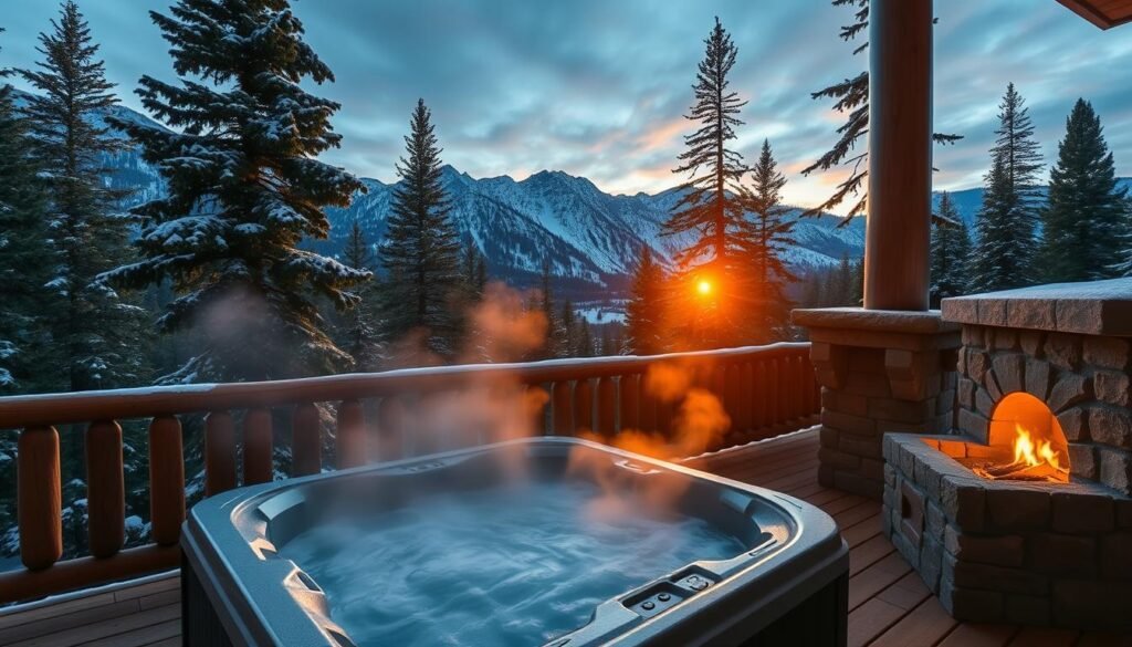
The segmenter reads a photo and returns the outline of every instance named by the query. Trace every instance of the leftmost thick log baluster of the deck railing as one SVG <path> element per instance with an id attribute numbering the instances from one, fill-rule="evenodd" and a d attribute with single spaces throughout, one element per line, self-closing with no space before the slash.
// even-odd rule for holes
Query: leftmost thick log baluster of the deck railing
<path id="1" fill-rule="evenodd" d="M 55 563 L 63 554 L 59 433 L 28 427 L 19 434 L 16 480 L 19 556 L 29 570 Z"/>

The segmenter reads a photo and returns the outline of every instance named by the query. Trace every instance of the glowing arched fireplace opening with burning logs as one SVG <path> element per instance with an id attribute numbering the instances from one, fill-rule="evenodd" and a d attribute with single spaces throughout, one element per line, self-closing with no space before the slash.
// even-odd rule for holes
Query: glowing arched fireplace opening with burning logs
<path id="1" fill-rule="evenodd" d="M 989 462 L 974 467 L 984 478 L 1067 483 L 1069 443 L 1057 417 L 1029 393 L 1009 393 L 990 416 Z"/>

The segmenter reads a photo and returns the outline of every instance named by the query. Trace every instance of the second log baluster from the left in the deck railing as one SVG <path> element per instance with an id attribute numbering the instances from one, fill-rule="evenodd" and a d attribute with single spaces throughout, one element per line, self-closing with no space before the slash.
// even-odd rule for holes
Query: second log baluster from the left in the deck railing
<path id="1" fill-rule="evenodd" d="M 91 554 L 112 556 L 126 543 L 122 428 L 114 420 L 98 420 L 86 429 L 86 499 Z"/>

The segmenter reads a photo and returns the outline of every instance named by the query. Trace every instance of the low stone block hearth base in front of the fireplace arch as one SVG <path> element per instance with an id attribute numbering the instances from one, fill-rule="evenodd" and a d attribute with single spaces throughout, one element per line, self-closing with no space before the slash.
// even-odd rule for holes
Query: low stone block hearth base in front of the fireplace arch
<path id="1" fill-rule="evenodd" d="M 961 437 L 884 439 L 885 535 L 955 619 L 1132 629 L 1132 500 L 976 477 Z"/>

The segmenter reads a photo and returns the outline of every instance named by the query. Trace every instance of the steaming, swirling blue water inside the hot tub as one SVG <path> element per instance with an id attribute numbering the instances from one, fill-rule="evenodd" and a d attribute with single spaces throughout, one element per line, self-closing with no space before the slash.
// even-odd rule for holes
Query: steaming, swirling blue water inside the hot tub
<path id="1" fill-rule="evenodd" d="M 526 646 L 585 624 L 612 596 L 744 548 L 700 519 L 615 508 L 585 482 L 525 484 L 320 523 L 282 553 L 359 645 Z"/>

